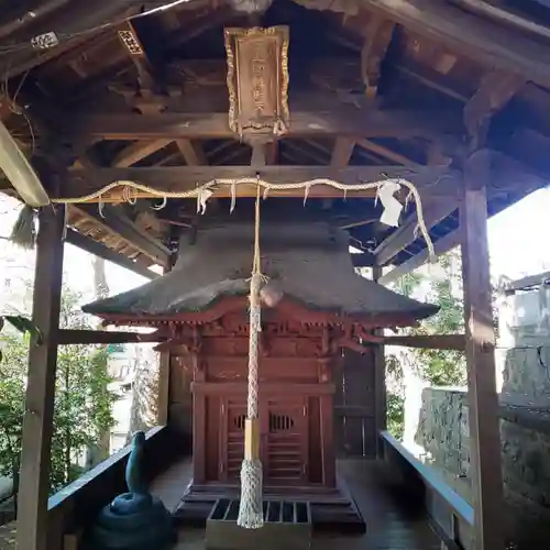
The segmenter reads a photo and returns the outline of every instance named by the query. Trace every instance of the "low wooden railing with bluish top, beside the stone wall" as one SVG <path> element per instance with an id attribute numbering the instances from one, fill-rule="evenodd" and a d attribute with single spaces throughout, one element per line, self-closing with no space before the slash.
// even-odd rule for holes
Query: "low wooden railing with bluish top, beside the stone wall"
<path id="1" fill-rule="evenodd" d="M 380 435 L 384 460 L 391 465 L 403 491 L 424 502 L 433 530 L 448 550 L 473 548 L 474 509 L 432 468 L 420 462 L 391 433 Z"/>

